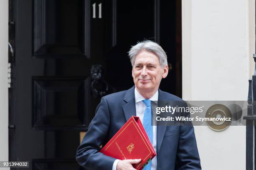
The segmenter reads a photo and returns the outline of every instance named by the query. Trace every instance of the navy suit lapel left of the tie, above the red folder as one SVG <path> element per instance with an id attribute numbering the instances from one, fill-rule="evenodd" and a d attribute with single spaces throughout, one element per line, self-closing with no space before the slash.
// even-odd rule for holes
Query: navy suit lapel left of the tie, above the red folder
<path id="1" fill-rule="evenodd" d="M 128 89 L 123 98 L 125 101 L 125 104 L 123 104 L 123 112 L 125 114 L 126 121 L 128 121 L 128 119 L 130 119 L 132 116 L 136 116 L 134 88 L 135 86 Z"/>

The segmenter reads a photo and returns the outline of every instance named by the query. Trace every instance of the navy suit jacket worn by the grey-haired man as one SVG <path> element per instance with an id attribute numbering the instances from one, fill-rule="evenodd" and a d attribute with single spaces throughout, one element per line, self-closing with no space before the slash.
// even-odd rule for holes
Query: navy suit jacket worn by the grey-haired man
<path id="1" fill-rule="evenodd" d="M 115 158 L 100 151 L 131 117 L 136 116 L 134 88 L 102 97 L 77 149 L 77 162 L 89 170 L 111 170 Z M 159 89 L 159 101 L 182 101 Z M 201 170 L 193 126 L 157 126 L 157 170 Z"/>

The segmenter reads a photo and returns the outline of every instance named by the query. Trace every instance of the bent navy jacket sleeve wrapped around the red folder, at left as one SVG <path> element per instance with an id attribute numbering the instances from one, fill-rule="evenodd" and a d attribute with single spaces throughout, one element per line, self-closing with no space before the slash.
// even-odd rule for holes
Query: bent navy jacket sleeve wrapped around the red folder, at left
<path id="1" fill-rule="evenodd" d="M 95 117 L 89 125 L 88 131 L 77 148 L 76 160 L 89 170 L 111 170 L 115 158 L 106 156 L 100 151 L 100 145 L 106 140 L 110 126 L 108 102 L 102 97 L 97 106 Z"/>

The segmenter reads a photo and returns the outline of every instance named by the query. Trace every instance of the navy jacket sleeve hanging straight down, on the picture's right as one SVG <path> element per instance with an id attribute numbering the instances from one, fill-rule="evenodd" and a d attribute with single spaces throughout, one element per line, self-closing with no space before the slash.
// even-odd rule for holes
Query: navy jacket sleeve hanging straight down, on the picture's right
<path id="1" fill-rule="evenodd" d="M 184 103 L 184 102 L 182 102 Z M 187 107 L 187 104 L 182 104 Z M 190 117 L 189 113 L 182 113 L 184 117 Z M 179 144 L 176 158 L 176 170 L 201 170 L 200 157 L 197 150 L 194 127 L 192 122 L 184 122 L 180 126 Z"/>

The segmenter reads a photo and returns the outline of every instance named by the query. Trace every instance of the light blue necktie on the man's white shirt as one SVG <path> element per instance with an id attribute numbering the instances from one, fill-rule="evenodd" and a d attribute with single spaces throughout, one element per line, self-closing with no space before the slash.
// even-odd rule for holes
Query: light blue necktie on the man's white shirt
<path id="1" fill-rule="evenodd" d="M 145 99 L 143 100 L 143 103 L 146 105 L 146 109 L 144 111 L 144 117 L 143 117 L 143 127 L 146 130 L 146 133 L 148 134 L 148 138 L 152 144 L 153 142 L 153 127 L 151 126 L 151 100 Z M 146 165 L 143 170 L 151 170 L 151 161 Z"/>

